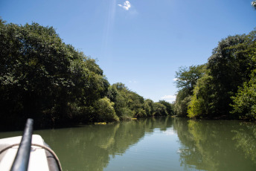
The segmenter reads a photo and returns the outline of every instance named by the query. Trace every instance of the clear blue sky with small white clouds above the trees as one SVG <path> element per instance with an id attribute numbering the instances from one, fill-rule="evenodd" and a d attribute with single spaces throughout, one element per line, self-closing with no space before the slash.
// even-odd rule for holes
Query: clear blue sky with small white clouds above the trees
<path id="1" fill-rule="evenodd" d="M 256 27 L 252 0 L 1 0 L 8 23 L 53 26 L 63 42 L 97 59 L 109 83 L 173 100 L 180 66 L 207 62 L 229 35 Z"/>

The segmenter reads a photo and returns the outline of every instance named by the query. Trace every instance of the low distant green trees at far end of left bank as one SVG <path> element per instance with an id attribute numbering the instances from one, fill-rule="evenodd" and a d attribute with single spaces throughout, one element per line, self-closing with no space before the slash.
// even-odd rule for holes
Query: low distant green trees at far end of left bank
<path id="1" fill-rule="evenodd" d="M 137 93 L 130 91 L 123 83 L 115 83 L 109 86 L 107 97 L 115 103 L 115 112 L 121 120 L 132 117 L 166 116 L 172 113 L 170 103 L 160 101 L 154 103 L 153 100 L 144 100 Z"/>

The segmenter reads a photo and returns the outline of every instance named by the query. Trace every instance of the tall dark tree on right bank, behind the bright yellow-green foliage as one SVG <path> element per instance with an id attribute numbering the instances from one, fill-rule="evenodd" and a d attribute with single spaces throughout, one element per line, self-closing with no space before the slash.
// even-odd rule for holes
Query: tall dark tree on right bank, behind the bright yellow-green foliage
<path id="1" fill-rule="evenodd" d="M 250 59 L 243 53 L 237 54 L 237 51 L 243 51 L 243 43 L 246 35 L 228 36 L 222 39 L 217 48 L 214 48 L 213 54 L 208 59 L 208 75 L 211 77 L 211 88 L 208 88 L 207 95 L 203 100 L 211 99 L 208 113 L 211 117 L 228 116 L 231 111 L 229 104 L 231 96 L 237 92 L 237 87 L 243 85 L 243 82 L 249 77 Z M 214 90 L 214 91 L 213 91 Z"/>

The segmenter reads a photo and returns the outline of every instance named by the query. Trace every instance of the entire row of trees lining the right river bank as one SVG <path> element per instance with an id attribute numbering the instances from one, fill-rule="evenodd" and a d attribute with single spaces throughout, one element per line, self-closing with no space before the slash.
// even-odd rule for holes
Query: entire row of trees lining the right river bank
<path id="1" fill-rule="evenodd" d="M 256 30 L 222 39 L 208 62 L 176 78 L 179 116 L 256 120 Z"/>

